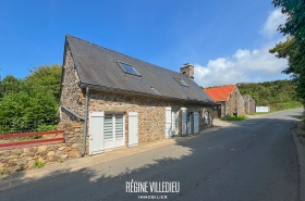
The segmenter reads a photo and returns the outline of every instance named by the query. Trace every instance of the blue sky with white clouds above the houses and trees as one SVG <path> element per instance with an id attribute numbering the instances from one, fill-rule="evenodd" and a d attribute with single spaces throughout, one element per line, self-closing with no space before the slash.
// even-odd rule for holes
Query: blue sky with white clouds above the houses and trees
<path id="1" fill-rule="evenodd" d="M 172 71 L 203 86 L 285 79 L 268 50 L 285 37 L 271 0 L 0 0 L 0 75 L 61 64 L 65 34 Z"/>

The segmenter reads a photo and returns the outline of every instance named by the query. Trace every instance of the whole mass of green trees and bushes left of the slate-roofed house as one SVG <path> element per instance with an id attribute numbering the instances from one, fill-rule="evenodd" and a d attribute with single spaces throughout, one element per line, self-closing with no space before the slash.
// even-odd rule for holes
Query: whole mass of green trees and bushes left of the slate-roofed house
<path id="1" fill-rule="evenodd" d="M 25 79 L 8 75 L 1 81 L 0 135 L 57 129 L 60 65 L 34 70 Z"/>

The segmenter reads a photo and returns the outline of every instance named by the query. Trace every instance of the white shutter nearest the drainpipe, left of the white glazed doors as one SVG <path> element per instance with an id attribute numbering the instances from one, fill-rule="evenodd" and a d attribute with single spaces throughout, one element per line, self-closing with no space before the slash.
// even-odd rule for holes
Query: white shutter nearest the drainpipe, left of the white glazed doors
<path id="1" fill-rule="evenodd" d="M 89 113 L 89 154 L 103 152 L 103 112 Z"/>

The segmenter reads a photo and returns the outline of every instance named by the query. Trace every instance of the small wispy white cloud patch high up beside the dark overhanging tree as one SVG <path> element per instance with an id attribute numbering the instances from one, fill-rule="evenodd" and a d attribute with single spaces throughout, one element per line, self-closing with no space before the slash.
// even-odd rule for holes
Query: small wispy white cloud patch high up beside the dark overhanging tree
<path id="1" fill-rule="evenodd" d="M 281 13 L 280 9 L 277 9 L 269 13 L 269 16 L 258 32 L 259 35 L 271 39 L 277 34 L 278 26 L 284 24 L 286 16 Z"/>

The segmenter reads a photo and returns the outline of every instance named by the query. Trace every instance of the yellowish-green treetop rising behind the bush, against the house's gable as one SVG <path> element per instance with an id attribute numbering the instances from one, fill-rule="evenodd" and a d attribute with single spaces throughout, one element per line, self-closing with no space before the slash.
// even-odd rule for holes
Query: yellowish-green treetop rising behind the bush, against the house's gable
<path id="1" fill-rule="evenodd" d="M 29 70 L 30 75 L 26 77 L 26 80 L 33 86 L 44 86 L 49 90 L 59 101 L 60 87 L 61 87 L 61 65 L 39 65 Z"/>

